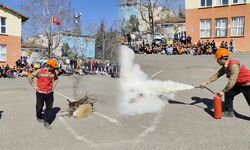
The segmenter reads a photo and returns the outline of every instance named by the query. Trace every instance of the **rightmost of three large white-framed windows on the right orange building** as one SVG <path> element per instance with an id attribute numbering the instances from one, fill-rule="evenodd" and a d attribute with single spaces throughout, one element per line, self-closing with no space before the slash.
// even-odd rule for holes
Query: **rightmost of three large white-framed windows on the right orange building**
<path id="1" fill-rule="evenodd" d="M 245 17 L 232 17 L 231 21 L 231 36 L 244 35 Z"/>

